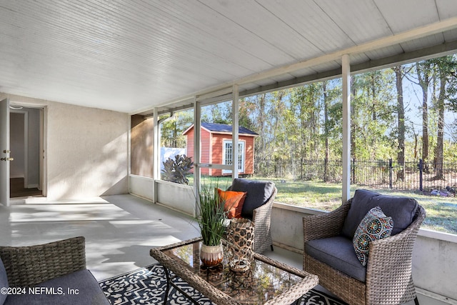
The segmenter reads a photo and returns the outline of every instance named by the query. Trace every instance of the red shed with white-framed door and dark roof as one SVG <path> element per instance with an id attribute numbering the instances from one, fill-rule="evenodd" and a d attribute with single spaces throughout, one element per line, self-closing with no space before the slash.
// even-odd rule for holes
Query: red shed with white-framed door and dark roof
<path id="1" fill-rule="evenodd" d="M 194 160 L 194 125 L 183 133 L 186 135 L 187 156 Z M 255 132 L 238 127 L 238 174 L 254 172 L 254 139 Z M 201 123 L 201 162 L 212 164 L 232 164 L 231 125 Z M 195 161 L 195 160 L 194 160 Z M 230 175 L 231 171 L 222 169 L 201 169 L 201 174 L 209 176 Z"/>

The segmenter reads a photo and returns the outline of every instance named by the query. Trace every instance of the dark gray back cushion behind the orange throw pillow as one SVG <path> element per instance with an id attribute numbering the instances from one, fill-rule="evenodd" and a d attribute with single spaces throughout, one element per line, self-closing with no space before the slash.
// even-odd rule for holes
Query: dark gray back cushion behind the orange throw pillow
<path id="1" fill-rule="evenodd" d="M 231 184 L 232 191 L 247 191 L 244 199 L 243 211 L 241 216 L 252 219 L 254 209 L 266 204 L 266 201 L 273 195 L 274 184 L 271 181 L 256 181 L 248 179 L 233 179 Z"/>

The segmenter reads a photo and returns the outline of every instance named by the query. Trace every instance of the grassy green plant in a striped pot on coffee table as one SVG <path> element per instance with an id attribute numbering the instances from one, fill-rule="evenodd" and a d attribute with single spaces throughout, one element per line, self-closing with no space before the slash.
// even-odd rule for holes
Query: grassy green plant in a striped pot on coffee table
<path id="1" fill-rule="evenodd" d="M 197 217 L 203 239 L 200 259 L 205 266 L 217 266 L 224 259 L 221 239 L 226 231 L 224 201 L 214 188 L 202 186 L 197 201 Z"/>

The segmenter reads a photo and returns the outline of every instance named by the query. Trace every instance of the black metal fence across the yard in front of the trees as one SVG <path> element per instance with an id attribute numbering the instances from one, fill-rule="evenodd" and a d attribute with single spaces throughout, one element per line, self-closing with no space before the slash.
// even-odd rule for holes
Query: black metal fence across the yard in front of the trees
<path id="1" fill-rule="evenodd" d="M 256 159 L 255 173 L 282 179 L 324 181 L 340 183 L 343 175 L 341 160 L 288 160 Z M 360 186 L 410 191 L 456 188 L 457 163 L 406 161 L 399 164 L 392 159 L 386 161 L 351 162 L 351 182 Z"/>

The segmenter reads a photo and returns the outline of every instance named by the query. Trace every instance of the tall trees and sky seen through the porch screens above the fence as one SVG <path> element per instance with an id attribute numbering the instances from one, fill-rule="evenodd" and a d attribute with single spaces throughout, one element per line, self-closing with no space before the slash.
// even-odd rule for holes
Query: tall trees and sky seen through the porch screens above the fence
<path id="1" fill-rule="evenodd" d="M 351 94 L 352 158 L 457 161 L 456 55 L 353 75 Z M 259 134 L 256 160 L 341 159 L 341 79 L 248 96 L 239 105 L 240 126 Z M 166 120 L 162 145 L 184 147 L 193 115 Z M 231 101 L 205 106 L 201 120 L 231 124 Z"/>

